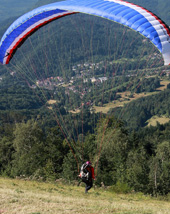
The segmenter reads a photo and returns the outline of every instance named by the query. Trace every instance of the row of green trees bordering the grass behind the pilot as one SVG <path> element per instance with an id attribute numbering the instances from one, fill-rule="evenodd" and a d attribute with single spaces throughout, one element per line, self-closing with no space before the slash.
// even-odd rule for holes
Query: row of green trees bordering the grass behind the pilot
<path id="1" fill-rule="evenodd" d="M 83 157 L 95 164 L 96 185 L 121 184 L 127 192 L 153 196 L 169 193 L 169 124 L 129 132 L 121 121 L 103 118 L 95 133 L 83 141 L 79 137 L 74 151 L 58 126 L 45 128 L 33 120 L 1 127 L 2 176 L 71 182 L 78 179 L 76 160 L 80 164 Z"/>

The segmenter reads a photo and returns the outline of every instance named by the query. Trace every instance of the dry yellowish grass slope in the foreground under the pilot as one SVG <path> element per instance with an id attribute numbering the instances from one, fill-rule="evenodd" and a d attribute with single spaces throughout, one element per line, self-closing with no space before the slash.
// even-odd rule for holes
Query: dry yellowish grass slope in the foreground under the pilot
<path id="1" fill-rule="evenodd" d="M 170 202 L 141 193 L 0 178 L 0 214 L 169 214 Z"/>

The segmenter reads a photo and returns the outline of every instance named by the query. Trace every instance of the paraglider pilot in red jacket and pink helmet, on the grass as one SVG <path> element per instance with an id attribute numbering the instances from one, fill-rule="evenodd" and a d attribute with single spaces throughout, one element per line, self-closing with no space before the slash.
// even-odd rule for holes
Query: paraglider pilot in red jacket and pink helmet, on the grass
<path id="1" fill-rule="evenodd" d="M 95 180 L 94 168 L 90 161 L 86 161 L 81 166 L 79 177 L 86 184 L 85 193 L 87 193 L 93 186 L 93 180 Z"/>

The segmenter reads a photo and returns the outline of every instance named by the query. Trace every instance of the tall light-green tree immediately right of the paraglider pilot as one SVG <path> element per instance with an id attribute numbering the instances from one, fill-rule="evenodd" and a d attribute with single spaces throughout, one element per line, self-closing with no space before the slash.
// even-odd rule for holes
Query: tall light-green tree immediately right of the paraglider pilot
<path id="1" fill-rule="evenodd" d="M 123 124 L 115 118 L 104 119 L 97 130 L 96 144 L 96 159 L 99 158 L 97 181 L 105 185 L 124 183 L 130 142 Z"/>

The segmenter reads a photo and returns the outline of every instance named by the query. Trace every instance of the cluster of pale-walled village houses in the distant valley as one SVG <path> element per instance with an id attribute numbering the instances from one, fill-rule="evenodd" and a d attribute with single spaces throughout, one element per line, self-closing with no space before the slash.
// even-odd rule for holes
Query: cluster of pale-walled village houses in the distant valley
<path id="1" fill-rule="evenodd" d="M 152 58 L 155 59 L 155 57 L 158 57 L 157 55 L 153 56 Z M 101 61 L 99 63 L 83 63 L 83 64 L 77 64 L 72 66 L 72 72 L 74 73 L 74 76 L 70 77 L 70 79 L 63 78 L 61 76 L 51 76 L 46 79 L 37 80 L 36 84 L 32 85 L 31 88 L 45 88 L 48 90 L 54 90 L 55 88 L 59 86 L 63 86 L 68 90 L 73 91 L 74 93 L 77 93 L 77 89 L 75 89 L 75 85 L 77 82 L 83 83 L 94 83 L 95 85 L 99 85 L 105 81 L 108 80 L 108 77 L 106 76 L 105 71 L 107 69 L 107 66 L 111 66 L 114 64 L 114 61 L 107 62 L 107 64 L 104 61 Z M 96 75 L 97 71 L 97 75 Z M 114 73 L 115 71 L 113 71 Z M 136 76 L 135 74 L 136 70 L 133 71 L 127 71 L 126 75 L 127 77 Z M 160 71 L 157 69 L 152 69 L 151 71 L 147 72 L 145 76 L 148 78 L 149 76 L 157 75 Z M 103 75 L 104 74 L 104 75 Z M 161 72 L 161 75 L 170 76 L 170 70 L 164 69 Z M 115 78 L 116 76 L 113 75 L 112 78 Z M 110 79 L 111 77 L 109 77 Z"/>

